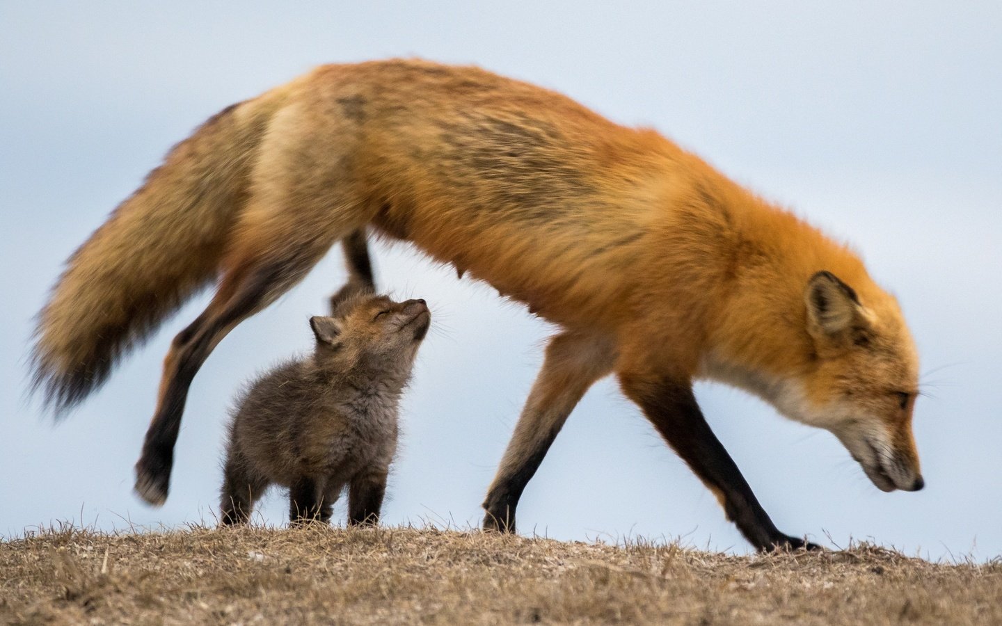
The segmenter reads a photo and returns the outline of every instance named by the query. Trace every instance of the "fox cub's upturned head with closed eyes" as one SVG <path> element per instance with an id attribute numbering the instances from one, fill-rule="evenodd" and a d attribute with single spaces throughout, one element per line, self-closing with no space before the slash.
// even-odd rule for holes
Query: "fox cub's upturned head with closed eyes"
<path id="1" fill-rule="evenodd" d="M 343 293 L 330 317 L 314 317 L 318 358 L 410 364 L 428 333 L 431 312 L 423 299 L 397 302 L 368 288 Z"/>

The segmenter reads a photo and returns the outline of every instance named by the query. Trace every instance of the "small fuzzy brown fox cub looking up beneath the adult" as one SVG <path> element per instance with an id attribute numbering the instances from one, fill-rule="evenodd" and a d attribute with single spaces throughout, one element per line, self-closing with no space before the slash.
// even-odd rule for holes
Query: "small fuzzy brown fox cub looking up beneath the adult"
<path id="1" fill-rule="evenodd" d="M 431 324 L 423 299 L 341 294 L 311 318 L 317 348 L 261 377 L 238 399 L 226 447 L 222 524 L 245 523 L 273 485 L 289 487 L 290 521 L 329 522 L 348 487 L 350 524 L 379 521 L 397 448 L 400 396 Z"/>

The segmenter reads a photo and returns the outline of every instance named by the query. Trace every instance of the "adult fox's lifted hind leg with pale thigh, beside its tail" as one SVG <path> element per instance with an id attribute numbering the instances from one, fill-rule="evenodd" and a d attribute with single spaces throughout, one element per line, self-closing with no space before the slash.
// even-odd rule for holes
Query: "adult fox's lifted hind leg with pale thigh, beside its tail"
<path id="1" fill-rule="evenodd" d="M 306 141 L 309 146 L 295 152 L 298 144 L 281 128 L 270 136 L 277 137 L 277 145 L 263 145 L 263 171 L 256 172 L 250 184 L 254 195 L 221 263 L 215 296 L 174 338 L 164 360 L 156 412 L 135 466 L 135 490 L 153 505 L 166 500 L 188 387 L 212 349 L 233 327 L 299 282 L 335 241 L 372 216 L 355 195 L 348 159 L 302 153 L 329 147 L 319 142 Z"/>

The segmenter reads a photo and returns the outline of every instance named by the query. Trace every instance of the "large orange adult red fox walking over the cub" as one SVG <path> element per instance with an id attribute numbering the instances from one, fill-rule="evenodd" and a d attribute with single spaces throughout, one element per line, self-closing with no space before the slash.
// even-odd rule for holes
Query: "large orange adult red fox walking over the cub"
<path id="1" fill-rule="evenodd" d="M 233 327 L 360 229 L 413 242 L 563 330 L 484 503 L 515 507 L 568 414 L 614 373 L 760 550 L 780 532 L 713 436 L 693 379 L 838 437 L 884 491 L 921 489 L 917 356 L 895 298 L 845 245 L 649 129 L 476 67 L 326 65 L 181 141 L 69 258 L 39 315 L 57 410 L 218 278 L 174 339 L 136 491 L 167 496 L 188 386 Z M 365 242 L 361 241 L 365 250 Z"/>

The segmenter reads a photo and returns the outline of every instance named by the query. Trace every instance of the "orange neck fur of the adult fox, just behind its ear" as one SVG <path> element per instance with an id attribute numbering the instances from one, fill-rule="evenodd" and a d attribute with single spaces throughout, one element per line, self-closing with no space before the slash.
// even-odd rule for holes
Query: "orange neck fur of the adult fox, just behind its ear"
<path id="1" fill-rule="evenodd" d="M 729 274 L 697 376 L 746 390 L 794 417 L 803 413 L 801 381 L 818 358 L 805 303 L 811 276 L 831 271 L 864 298 L 882 291 L 851 249 L 793 213 L 746 192 L 727 200 Z"/>

